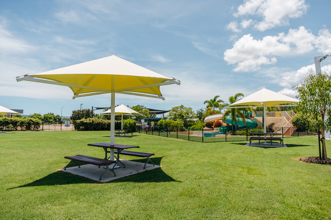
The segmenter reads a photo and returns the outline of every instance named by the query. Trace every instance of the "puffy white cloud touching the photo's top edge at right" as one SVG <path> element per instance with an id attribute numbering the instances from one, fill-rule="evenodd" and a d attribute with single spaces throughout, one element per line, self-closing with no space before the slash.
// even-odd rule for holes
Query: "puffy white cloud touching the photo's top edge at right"
<path id="1" fill-rule="evenodd" d="M 233 15 L 260 16 L 254 28 L 265 31 L 273 27 L 289 25 L 290 18 L 298 18 L 306 13 L 309 5 L 305 0 L 245 0 Z"/>

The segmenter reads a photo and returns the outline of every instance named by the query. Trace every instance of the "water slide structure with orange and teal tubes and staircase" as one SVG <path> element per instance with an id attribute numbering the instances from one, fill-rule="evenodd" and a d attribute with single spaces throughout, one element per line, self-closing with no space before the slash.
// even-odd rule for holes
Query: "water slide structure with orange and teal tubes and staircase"
<path id="1" fill-rule="evenodd" d="M 274 127 L 286 128 L 282 129 L 284 136 L 291 136 L 297 129 L 291 123 L 292 117 L 296 114 L 293 111 L 270 111 L 266 112 L 266 124 L 274 124 Z M 262 127 L 262 113 L 260 111 L 252 112 L 251 118 L 246 118 L 246 124 L 242 118 L 237 117 L 238 128 L 260 128 Z M 222 120 L 223 114 L 209 115 L 204 119 L 204 123 L 212 125 L 213 132 L 205 133 L 204 137 L 215 137 L 216 135 L 225 134 L 227 131 L 233 130 L 235 122 L 231 117 Z M 268 127 L 268 126 L 267 126 Z M 278 131 L 279 132 L 279 131 Z"/>

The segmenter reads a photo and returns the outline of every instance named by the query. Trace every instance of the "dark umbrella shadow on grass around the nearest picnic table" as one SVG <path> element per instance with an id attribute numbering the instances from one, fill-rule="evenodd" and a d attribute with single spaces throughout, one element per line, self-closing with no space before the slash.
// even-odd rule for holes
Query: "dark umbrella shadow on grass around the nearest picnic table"
<path id="1" fill-rule="evenodd" d="M 162 157 L 155 157 L 152 158 L 155 165 L 160 165 Z M 146 159 L 141 160 L 132 160 L 135 162 L 145 163 Z M 80 165 L 83 165 L 84 163 L 80 163 Z M 148 165 L 147 165 L 148 166 Z M 115 170 L 116 172 L 116 170 Z M 112 182 L 179 182 L 175 179 L 173 179 L 171 176 L 167 175 L 162 171 L 161 168 L 149 170 L 142 173 L 137 173 L 135 175 L 123 177 L 121 179 L 117 179 L 110 182 L 105 183 L 112 183 Z M 54 185 L 68 185 L 68 184 L 78 184 L 78 183 L 97 183 L 97 184 L 104 184 L 99 181 L 95 181 L 92 179 L 85 178 L 83 176 L 74 175 L 71 173 L 63 172 L 63 171 L 57 171 L 55 173 L 51 173 L 43 178 L 37 179 L 31 183 L 27 183 L 21 186 L 9 188 L 9 189 L 15 189 L 15 188 L 22 188 L 22 187 L 30 187 L 30 186 L 54 186 Z M 7 189 L 7 190 L 9 190 Z"/>

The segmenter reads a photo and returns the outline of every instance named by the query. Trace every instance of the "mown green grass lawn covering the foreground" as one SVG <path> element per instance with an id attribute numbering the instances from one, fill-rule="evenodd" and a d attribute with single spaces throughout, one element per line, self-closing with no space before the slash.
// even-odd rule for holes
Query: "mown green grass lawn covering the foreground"
<path id="1" fill-rule="evenodd" d="M 315 136 L 263 148 L 135 135 L 115 141 L 163 167 L 99 183 L 58 169 L 64 156 L 103 158 L 87 143 L 107 131 L 0 134 L 0 219 L 331 219 L 331 166 L 294 159 L 318 155 Z"/>

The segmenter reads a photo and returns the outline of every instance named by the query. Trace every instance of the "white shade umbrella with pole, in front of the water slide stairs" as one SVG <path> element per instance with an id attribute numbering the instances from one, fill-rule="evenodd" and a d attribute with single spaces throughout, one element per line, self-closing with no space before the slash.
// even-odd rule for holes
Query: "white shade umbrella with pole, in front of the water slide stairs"
<path id="1" fill-rule="evenodd" d="M 299 100 L 291 98 L 289 96 L 271 91 L 269 89 L 261 89 L 245 98 L 240 99 L 239 101 L 228 105 L 227 107 L 233 108 L 236 106 L 243 107 L 263 107 L 263 118 L 264 118 L 264 133 L 266 133 L 266 123 L 265 123 L 265 110 L 266 107 L 272 107 L 280 104 L 290 104 L 290 103 L 299 103 Z M 266 143 L 266 141 L 264 141 Z"/>

